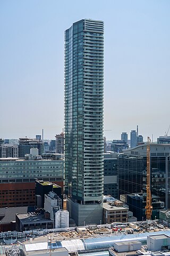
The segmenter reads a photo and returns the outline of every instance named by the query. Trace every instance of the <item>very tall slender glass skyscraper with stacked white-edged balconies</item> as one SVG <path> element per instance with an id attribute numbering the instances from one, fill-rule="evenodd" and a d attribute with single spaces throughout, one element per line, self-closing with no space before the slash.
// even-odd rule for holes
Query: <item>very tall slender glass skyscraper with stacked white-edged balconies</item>
<path id="1" fill-rule="evenodd" d="M 65 194 L 77 225 L 103 216 L 104 22 L 65 31 Z"/>

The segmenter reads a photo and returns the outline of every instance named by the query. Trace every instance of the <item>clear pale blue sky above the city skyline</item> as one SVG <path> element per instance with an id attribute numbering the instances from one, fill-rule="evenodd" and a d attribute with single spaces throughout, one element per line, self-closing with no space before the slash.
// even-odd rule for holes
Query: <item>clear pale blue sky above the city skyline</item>
<path id="1" fill-rule="evenodd" d="M 107 139 L 139 125 L 154 140 L 170 124 L 170 1 L 1 0 L 0 138 L 62 132 L 64 30 L 105 22 Z M 170 135 L 170 132 L 169 132 Z"/>

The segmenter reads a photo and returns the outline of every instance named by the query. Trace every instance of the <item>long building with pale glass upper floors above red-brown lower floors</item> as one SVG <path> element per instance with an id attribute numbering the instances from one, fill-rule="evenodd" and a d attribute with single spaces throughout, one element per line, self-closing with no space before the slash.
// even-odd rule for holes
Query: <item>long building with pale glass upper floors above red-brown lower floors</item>
<path id="1" fill-rule="evenodd" d="M 63 160 L 0 158 L 0 207 L 35 205 L 35 180 L 63 188 Z"/>

